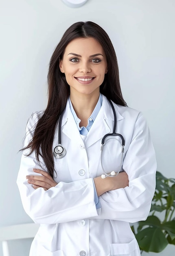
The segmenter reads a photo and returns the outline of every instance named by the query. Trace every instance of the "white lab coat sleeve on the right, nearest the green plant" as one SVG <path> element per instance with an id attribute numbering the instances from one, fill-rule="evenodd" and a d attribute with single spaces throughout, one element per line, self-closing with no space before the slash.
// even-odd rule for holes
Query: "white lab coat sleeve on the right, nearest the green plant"
<path id="1" fill-rule="evenodd" d="M 156 168 L 149 128 L 142 114 L 139 114 L 123 162 L 129 186 L 100 196 L 101 214 L 98 218 L 127 222 L 147 219 L 155 192 Z"/>

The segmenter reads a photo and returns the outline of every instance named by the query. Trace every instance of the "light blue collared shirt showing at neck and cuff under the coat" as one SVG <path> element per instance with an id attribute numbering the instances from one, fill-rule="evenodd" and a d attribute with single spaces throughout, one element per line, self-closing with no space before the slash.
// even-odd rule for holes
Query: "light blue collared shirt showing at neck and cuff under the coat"
<path id="1" fill-rule="evenodd" d="M 95 119 L 96 119 L 96 117 L 97 117 L 97 115 L 98 115 L 98 112 L 99 112 L 100 109 L 101 109 L 101 106 L 102 106 L 102 103 L 103 103 L 103 99 L 102 99 L 101 93 L 100 93 L 98 102 L 96 103 L 96 106 L 95 106 L 95 108 L 94 108 L 94 111 L 92 112 L 91 116 L 88 118 L 88 125 L 87 125 L 86 127 L 84 127 L 84 126 L 81 126 L 81 127 L 80 127 L 80 126 L 79 126 L 79 124 L 80 124 L 80 122 L 81 122 L 81 119 L 79 119 L 79 118 L 77 117 L 77 114 L 76 114 L 76 112 L 75 112 L 75 110 L 74 110 L 74 108 L 73 108 L 73 106 L 72 106 L 72 102 L 70 101 L 70 97 L 69 97 L 69 103 L 70 103 L 70 110 L 71 110 L 72 115 L 73 115 L 73 117 L 74 117 L 74 120 L 75 120 L 75 122 L 76 122 L 76 124 L 77 124 L 77 127 L 78 127 L 78 129 L 79 129 L 79 131 L 80 131 L 80 134 L 86 136 L 86 135 L 88 134 L 88 132 L 89 132 L 89 130 L 90 130 L 92 124 L 94 123 L 94 121 L 95 121 Z M 94 183 L 94 179 L 92 179 L 92 181 L 93 181 L 93 183 Z M 98 195 L 97 195 L 97 193 L 96 193 L 95 184 L 94 184 L 94 202 L 95 202 L 95 204 L 96 204 L 96 209 L 101 208 L 101 204 L 100 204 L 100 201 L 98 200 Z"/>

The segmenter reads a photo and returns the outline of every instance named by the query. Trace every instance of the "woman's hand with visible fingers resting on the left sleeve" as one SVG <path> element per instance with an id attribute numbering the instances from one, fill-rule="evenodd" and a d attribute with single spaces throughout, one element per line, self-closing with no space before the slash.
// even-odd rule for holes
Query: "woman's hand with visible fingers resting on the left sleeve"
<path id="1" fill-rule="evenodd" d="M 34 189 L 43 188 L 44 190 L 48 190 L 53 186 L 56 186 L 57 183 L 53 180 L 53 178 L 45 171 L 39 169 L 33 169 L 35 173 L 40 173 L 41 175 L 27 175 L 26 179 L 29 184 L 33 184 Z"/>

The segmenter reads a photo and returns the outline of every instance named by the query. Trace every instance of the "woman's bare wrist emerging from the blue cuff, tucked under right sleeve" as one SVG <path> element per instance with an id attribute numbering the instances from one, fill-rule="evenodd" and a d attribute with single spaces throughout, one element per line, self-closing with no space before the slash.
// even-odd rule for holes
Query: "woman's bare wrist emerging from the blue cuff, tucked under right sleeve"
<path id="1" fill-rule="evenodd" d="M 116 177 L 106 177 L 105 179 L 102 179 L 101 176 L 96 177 L 94 183 L 99 196 L 110 190 L 125 188 L 129 185 L 129 180 L 127 173 L 121 172 Z"/>

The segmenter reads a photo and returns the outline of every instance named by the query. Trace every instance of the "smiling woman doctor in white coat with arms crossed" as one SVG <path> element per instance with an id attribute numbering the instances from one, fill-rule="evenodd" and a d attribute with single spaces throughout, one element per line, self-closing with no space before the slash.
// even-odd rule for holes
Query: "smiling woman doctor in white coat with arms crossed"
<path id="1" fill-rule="evenodd" d="M 155 152 L 142 113 L 122 97 L 116 54 L 101 27 L 68 28 L 50 60 L 48 92 L 46 110 L 28 121 L 17 180 L 26 213 L 41 224 L 30 256 L 139 256 L 129 222 L 149 214 Z M 114 128 L 107 98 L 125 139 L 122 158 L 119 136 L 109 136 L 101 154 Z M 120 173 L 102 179 L 103 170 Z"/>

